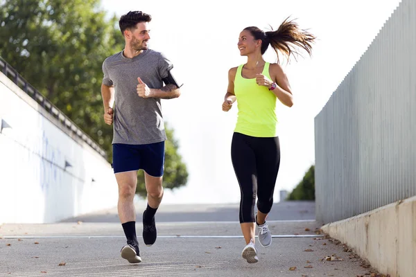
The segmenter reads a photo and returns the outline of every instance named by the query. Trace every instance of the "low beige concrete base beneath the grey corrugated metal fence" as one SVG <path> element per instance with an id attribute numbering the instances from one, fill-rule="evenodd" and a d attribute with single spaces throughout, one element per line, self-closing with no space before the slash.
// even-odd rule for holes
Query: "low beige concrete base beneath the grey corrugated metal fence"
<path id="1" fill-rule="evenodd" d="M 329 223 L 322 230 L 383 274 L 416 276 L 416 197 Z"/>

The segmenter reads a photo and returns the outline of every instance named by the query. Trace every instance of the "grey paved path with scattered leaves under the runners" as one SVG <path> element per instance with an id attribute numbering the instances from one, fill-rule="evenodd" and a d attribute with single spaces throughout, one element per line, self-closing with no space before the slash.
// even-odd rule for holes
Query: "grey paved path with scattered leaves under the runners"
<path id="1" fill-rule="evenodd" d="M 157 242 L 144 247 L 139 237 L 143 262 L 136 265 L 120 257 L 125 239 L 114 211 L 57 224 L 0 226 L 0 276 L 349 277 L 368 272 L 342 246 L 315 233 L 319 225 L 311 218 L 314 205 L 310 202 L 274 206 L 269 220 L 273 243 L 266 249 L 258 247 L 260 261 L 254 265 L 240 256 L 245 243 L 239 222 L 232 218 L 238 215 L 238 205 L 161 207 Z M 137 208 L 138 215 L 142 211 Z M 277 211 L 297 220 L 281 220 L 287 215 Z M 140 224 L 137 232 L 140 235 Z M 322 261 L 333 254 L 343 261 Z"/>

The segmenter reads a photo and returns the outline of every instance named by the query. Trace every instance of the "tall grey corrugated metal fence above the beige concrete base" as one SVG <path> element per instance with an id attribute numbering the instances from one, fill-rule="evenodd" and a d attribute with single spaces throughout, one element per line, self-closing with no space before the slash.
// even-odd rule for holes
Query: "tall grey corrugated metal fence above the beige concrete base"
<path id="1" fill-rule="evenodd" d="M 416 1 L 403 0 L 315 117 L 317 220 L 416 195 Z"/>

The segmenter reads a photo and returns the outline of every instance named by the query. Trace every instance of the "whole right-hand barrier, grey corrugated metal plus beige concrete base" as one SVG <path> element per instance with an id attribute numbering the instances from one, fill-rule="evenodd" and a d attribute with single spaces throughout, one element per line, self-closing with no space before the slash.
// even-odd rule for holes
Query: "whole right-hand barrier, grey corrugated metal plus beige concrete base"
<path id="1" fill-rule="evenodd" d="M 416 276 L 415 49 L 403 0 L 315 118 L 317 220 L 392 277 Z"/>

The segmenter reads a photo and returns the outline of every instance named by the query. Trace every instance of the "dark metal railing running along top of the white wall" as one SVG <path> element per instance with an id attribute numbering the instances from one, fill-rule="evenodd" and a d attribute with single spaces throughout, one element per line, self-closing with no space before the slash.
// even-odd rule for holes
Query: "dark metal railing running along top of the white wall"
<path id="1" fill-rule="evenodd" d="M 69 131 L 76 134 L 80 139 L 85 141 L 89 146 L 91 146 L 96 152 L 101 154 L 103 157 L 107 157 L 107 153 L 101 148 L 96 142 L 94 142 L 91 137 L 89 137 L 85 132 L 83 132 L 80 127 L 78 127 L 71 119 L 69 119 L 60 109 L 55 107 L 46 99 L 37 89 L 31 86 L 15 69 L 10 66 L 2 57 L 0 57 L 0 71 L 3 72 L 4 75 L 8 76 L 10 80 L 15 82 L 20 89 L 31 96 L 37 103 L 39 103 L 46 111 L 49 112 L 54 118 L 58 119 L 60 123 L 62 123 Z"/>

